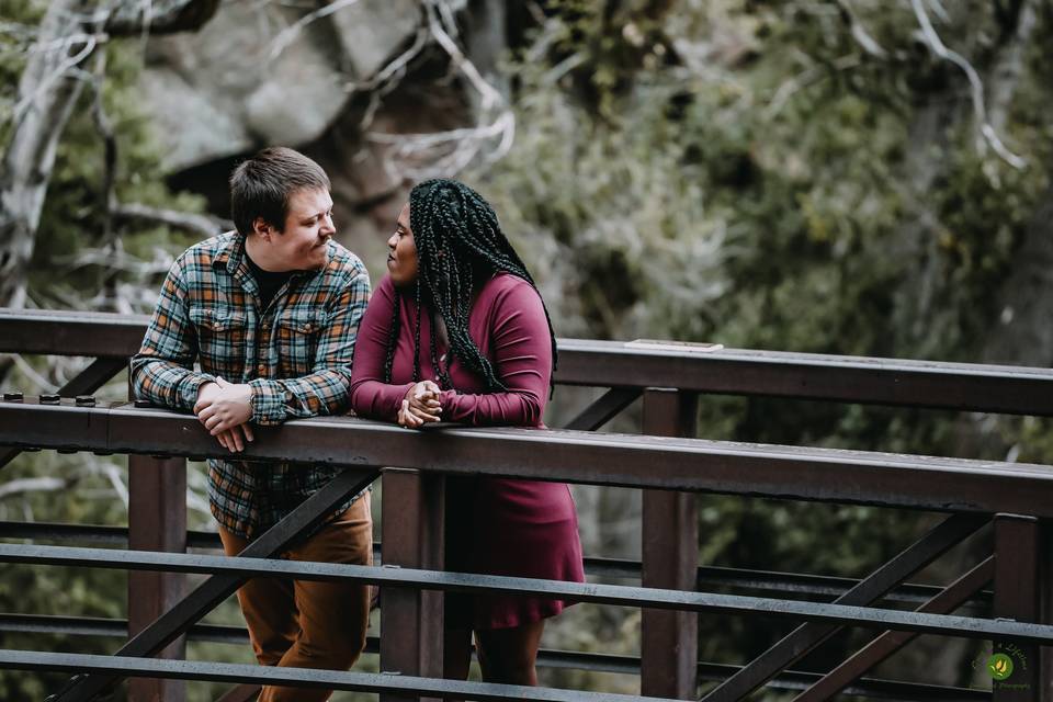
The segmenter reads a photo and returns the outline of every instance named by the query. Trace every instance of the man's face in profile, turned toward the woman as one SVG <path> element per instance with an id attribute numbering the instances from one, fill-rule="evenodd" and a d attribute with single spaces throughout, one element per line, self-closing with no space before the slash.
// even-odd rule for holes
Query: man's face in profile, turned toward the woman
<path id="1" fill-rule="evenodd" d="M 260 220 L 257 220 L 260 222 Z M 315 271 L 328 262 L 332 224 L 332 197 L 326 190 L 298 190 L 288 197 L 283 231 L 264 226 L 261 237 L 269 270 Z M 257 261 L 257 263 L 261 263 Z"/>

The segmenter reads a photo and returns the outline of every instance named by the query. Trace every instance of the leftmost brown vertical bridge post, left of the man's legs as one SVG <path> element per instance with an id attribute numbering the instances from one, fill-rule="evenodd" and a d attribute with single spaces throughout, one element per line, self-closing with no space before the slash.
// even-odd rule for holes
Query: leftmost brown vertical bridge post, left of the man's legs
<path id="1" fill-rule="evenodd" d="M 134 551 L 186 551 L 186 461 L 128 456 L 128 547 Z M 128 636 L 179 602 L 185 577 L 178 573 L 128 574 Z M 182 637 L 170 644 L 160 658 L 182 659 Z M 182 702 L 181 680 L 136 678 L 128 682 L 131 702 Z"/>

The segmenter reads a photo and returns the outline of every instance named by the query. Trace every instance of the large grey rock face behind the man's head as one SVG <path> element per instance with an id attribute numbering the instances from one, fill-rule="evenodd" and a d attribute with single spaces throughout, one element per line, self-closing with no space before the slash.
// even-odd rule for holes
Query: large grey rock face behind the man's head
<path id="1" fill-rule="evenodd" d="M 462 25 L 455 41 L 499 87 L 503 7 L 445 2 Z M 297 148 L 329 173 L 339 239 L 382 274 L 410 183 L 393 168 L 395 146 L 371 135 L 463 127 L 477 107 L 423 8 L 420 0 L 229 0 L 200 32 L 151 37 L 141 91 L 170 184 L 204 194 L 227 216 L 238 159 L 270 145 Z"/>

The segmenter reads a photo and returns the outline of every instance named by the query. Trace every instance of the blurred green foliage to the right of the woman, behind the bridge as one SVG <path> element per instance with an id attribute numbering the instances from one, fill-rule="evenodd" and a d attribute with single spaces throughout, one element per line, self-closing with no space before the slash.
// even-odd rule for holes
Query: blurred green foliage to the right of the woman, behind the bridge
<path id="1" fill-rule="evenodd" d="M 1028 158 L 1018 170 L 978 138 L 962 71 L 919 41 L 909 2 L 841 3 L 849 16 L 833 2 L 683 0 L 624 31 L 605 21 L 610 4 L 546 5 L 511 66 L 516 144 L 468 177 L 540 273 L 557 333 L 982 359 L 994 292 L 1049 188 L 1046 24 L 999 129 Z M 647 3 L 622 4 L 644 22 Z M 988 97 L 1009 41 L 994 5 L 933 15 Z M 950 412 L 711 397 L 700 435 L 1050 462 L 1048 423 L 992 422 L 992 437 Z M 854 577 L 930 523 L 856 506 L 704 505 L 703 563 Z M 782 631 L 704 622 L 702 657 L 738 663 Z"/>

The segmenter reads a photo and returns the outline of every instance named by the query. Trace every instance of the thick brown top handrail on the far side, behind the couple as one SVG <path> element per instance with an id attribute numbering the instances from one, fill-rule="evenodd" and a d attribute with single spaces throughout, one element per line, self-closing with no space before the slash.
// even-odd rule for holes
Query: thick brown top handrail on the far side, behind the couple
<path id="1" fill-rule="evenodd" d="M 147 317 L 0 308 L 0 352 L 127 358 Z M 1053 416 L 1053 370 L 561 339 L 555 381 Z"/>

